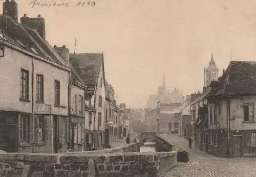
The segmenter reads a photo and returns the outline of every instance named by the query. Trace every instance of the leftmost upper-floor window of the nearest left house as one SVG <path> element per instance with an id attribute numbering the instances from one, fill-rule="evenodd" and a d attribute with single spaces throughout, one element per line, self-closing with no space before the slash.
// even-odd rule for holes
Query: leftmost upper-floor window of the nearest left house
<path id="1" fill-rule="evenodd" d="M 29 99 L 29 71 L 20 69 L 20 99 Z"/>

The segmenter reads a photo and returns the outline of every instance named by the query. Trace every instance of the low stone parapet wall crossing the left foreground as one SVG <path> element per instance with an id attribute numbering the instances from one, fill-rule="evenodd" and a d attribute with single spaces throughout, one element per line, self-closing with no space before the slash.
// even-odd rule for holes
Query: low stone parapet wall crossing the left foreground
<path id="1" fill-rule="evenodd" d="M 132 152 L 133 151 L 133 152 Z M 0 154 L 0 176 L 161 176 L 177 165 L 177 152 L 138 152 L 124 147 L 65 154 Z"/>

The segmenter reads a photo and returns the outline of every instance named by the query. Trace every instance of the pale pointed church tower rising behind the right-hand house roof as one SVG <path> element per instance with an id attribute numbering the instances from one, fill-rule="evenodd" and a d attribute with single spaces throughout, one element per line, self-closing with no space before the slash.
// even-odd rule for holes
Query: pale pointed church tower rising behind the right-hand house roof
<path id="1" fill-rule="evenodd" d="M 214 56 L 211 54 L 209 66 L 204 68 L 204 87 L 210 85 L 211 81 L 217 81 L 219 78 L 219 68 L 214 61 Z"/>

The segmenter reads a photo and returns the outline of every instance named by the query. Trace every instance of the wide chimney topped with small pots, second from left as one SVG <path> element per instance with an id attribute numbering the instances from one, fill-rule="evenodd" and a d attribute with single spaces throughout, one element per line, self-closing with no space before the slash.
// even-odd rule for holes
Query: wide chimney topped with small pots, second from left
<path id="1" fill-rule="evenodd" d="M 42 39 L 46 39 L 46 25 L 45 18 L 40 14 L 36 18 L 29 18 L 26 14 L 20 18 L 20 23 L 27 28 L 34 29 L 38 32 Z"/>

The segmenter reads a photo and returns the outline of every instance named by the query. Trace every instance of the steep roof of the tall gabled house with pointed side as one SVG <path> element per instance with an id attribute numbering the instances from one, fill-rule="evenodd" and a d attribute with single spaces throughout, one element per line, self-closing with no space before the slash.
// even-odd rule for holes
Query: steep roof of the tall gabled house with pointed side
<path id="1" fill-rule="evenodd" d="M 70 54 L 70 62 L 84 82 L 97 83 L 103 54 Z"/>

